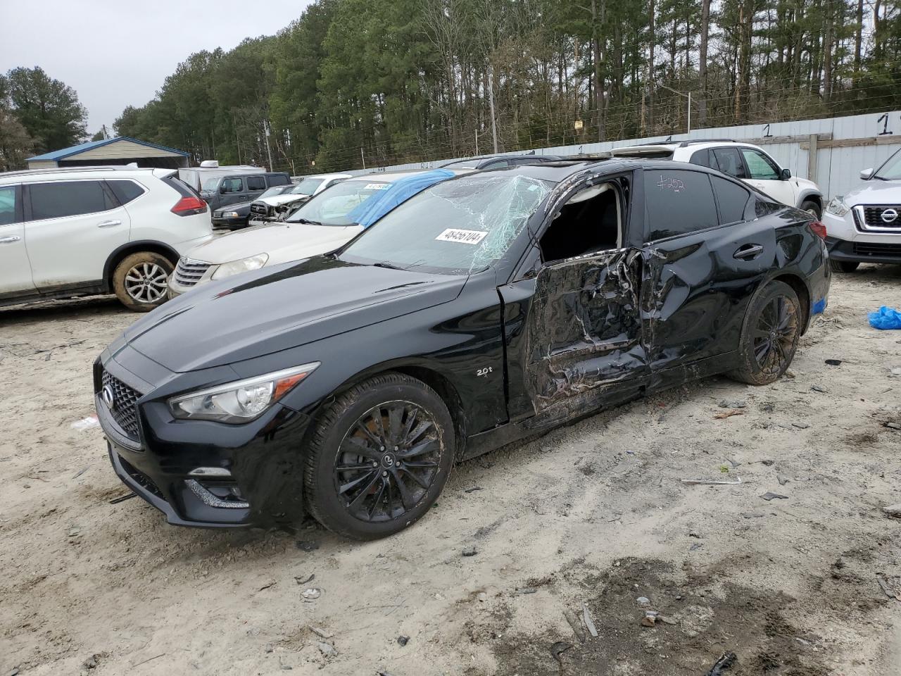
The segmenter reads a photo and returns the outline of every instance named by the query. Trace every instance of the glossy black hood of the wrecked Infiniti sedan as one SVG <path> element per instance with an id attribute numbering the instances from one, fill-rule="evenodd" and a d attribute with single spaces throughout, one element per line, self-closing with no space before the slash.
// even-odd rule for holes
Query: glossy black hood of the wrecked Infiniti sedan
<path id="1" fill-rule="evenodd" d="M 168 370 L 223 366 L 447 303 L 466 279 L 317 256 L 197 287 L 123 337 Z"/>

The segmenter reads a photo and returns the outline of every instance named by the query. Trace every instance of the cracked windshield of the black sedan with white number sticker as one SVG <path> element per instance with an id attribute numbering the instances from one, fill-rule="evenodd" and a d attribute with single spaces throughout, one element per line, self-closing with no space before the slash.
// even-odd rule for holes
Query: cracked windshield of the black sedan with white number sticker
<path id="1" fill-rule="evenodd" d="M 554 185 L 509 173 L 438 183 L 385 215 L 341 259 L 451 274 L 485 269 L 505 254 Z"/>

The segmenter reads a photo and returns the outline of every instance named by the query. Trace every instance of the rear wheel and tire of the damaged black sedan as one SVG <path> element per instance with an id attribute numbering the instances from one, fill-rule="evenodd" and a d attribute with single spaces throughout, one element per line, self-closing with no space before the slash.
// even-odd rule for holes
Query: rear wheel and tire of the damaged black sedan
<path id="1" fill-rule="evenodd" d="M 768 385 L 786 372 L 801 336 L 801 305 L 795 289 L 773 281 L 751 301 L 739 355 L 742 365 L 726 375 L 750 385 Z"/>

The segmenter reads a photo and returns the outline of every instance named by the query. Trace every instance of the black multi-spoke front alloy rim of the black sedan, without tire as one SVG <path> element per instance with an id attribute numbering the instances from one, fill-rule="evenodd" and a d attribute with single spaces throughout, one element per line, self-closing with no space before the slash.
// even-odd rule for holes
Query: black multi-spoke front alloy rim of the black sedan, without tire
<path id="1" fill-rule="evenodd" d="M 350 516 L 390 521 L 432 486 L 441 441 L 432 415 L 410 401 L 388 401 L 359 416 L 335 457 L 335 490 Z"/>

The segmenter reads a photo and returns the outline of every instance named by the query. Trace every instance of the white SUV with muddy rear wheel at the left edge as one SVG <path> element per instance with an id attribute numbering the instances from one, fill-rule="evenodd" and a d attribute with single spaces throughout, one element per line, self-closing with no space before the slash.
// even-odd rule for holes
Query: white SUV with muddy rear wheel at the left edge
<path id="1" fill-rule="evenodd" d="M 165 302 L 178 257 L 212 237 L 175 169 L 0 174 L 0 306 L 113 292 L 146 312 Z"/>

